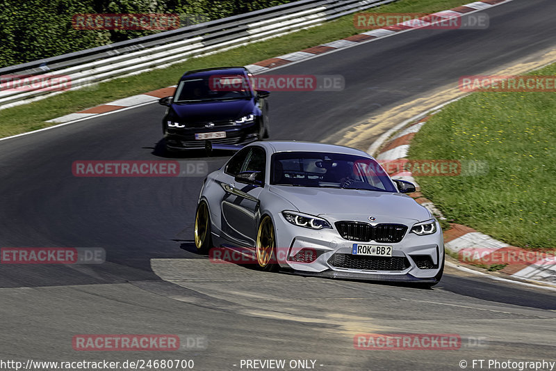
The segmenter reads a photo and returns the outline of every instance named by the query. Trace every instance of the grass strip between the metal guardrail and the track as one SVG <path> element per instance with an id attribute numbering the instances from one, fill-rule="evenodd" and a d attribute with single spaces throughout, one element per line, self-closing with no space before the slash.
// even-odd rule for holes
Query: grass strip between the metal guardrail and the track
<path id="1" fill-rule="evenodd" d="M 399 0 L 370 12 L 381 13 L 434 13 L 464 3 L 462 0 Z M 31 104 L 15 106 L 0 111 L 0 137 L 42 129 L 53 124 L 44 121 L 81 111 L 130 95 L 165 88 L 176 84 L 186 70 L 223 65 L 247 65 L 267 58 L 300 49 L 313 47 L 350 35 L 361 33 L 354 27 L 353 16 L 346 15 L 321 26 L 306 29 L 280 38 L 256 42 L 227 52 L 191 58 L 160 70 L 145 72 L 133 77 L 115 79 L 91 88 L 69 91 Z"/>

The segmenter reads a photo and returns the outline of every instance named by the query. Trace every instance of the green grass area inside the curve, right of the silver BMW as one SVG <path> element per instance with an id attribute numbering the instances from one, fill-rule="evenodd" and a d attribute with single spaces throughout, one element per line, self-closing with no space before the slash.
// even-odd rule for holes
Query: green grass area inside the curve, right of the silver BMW
<path id="1" fill-rule="evenodd" d="M 514 246 L 556 246 L 556 93 L 473 93 L 427 122 L 409 158 L 486 161 L 482 175 L 416 180 L 448 221 Z"/>

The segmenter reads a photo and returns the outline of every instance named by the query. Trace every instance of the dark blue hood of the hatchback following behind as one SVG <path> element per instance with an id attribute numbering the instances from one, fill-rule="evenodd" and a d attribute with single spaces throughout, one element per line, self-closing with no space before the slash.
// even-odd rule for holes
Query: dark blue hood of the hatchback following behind
<path id="1" fill-rule="evenodd" d="M 172 104 L 170 120 L 204 122 L 218 120 L 236 120 L 253 113 L 252 100 L 227 100 L 220 102 L 197 102 Z"/>

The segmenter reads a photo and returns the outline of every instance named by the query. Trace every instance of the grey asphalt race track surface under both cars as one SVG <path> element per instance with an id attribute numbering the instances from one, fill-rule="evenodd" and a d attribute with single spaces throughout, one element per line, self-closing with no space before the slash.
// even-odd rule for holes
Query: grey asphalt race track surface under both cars
<path id="1" fill-rule="evenodd" d="M 411 31 L 279 69 L 342 74 L 345 90 L 272 93 L 271 138 L 340 138 L 381 109 L 554 47 L 554 0 L 515 0 L 486 13 L 486 30 Z M 72 175 L 76 160 L 161 159 L 163 110 L 149 104 L 0 141 L 0 246 L 101 247 L 107 260 L 0 265 L 0 358 L 180 358 L 193 359 L 194 370 L 240 370 L 240 360 L 254 358 L 316 360 L 317 370 L 556 361 L 556 292 L 449 267 L 439 285 L 420 290 L 214 265 L 192 243 L 202 175 Z M 179 160 L 206 161 L 213 171 L 224 155 Z M 461 349 L 354 349 L 355 335 L 373 332 L 455 333 Z M 200 336 L 208 347 L 74 351 L 72 336 L 88 333 Z"/>

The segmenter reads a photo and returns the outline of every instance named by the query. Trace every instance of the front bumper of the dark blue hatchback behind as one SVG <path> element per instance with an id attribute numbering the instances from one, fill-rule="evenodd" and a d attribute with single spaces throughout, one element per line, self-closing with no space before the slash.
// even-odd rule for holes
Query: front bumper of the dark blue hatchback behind
<path id="1" fill-rule="evenodd" d="M 195 139 L 195 134 L 225 132 L 225 138 L 208 139 L 214 144 L 245 145 L 259 139 L 256 123 L 222 127 L 165 129 L 166 148 L 170 150 L 202 150 L 207 139 Z"/>

